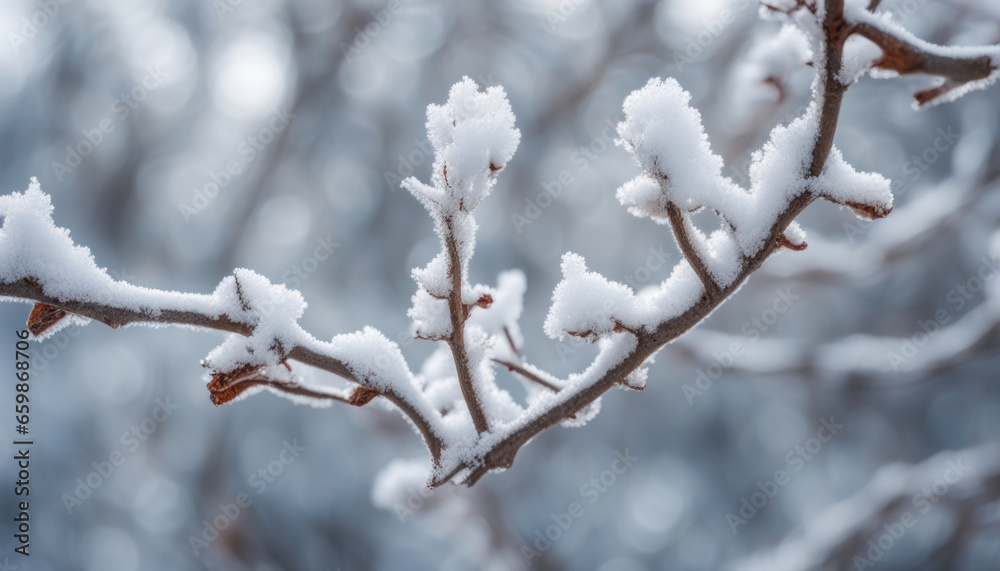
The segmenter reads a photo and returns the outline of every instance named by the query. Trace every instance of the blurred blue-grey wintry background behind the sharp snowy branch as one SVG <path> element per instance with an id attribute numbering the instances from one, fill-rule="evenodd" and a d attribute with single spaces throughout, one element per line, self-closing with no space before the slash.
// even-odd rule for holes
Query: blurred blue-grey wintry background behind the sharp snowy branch
<path id="1" fill-rule="evenodd" d="M 994 3 L 882 9 L 942 44 L 1000 38 Z M 472 278 L 525 271 L 527 357 L 566 375 L 594 350 L 542 334 L 559 257 L 578 252 L 633 287 L 662 281 L 679 259 L 666 227 L 614 198 L 636 174 L 608 128 L 622 100 L 650 77 L 676 77 L 744 182 L 750 153 L 809 97 L 811 68 L 781 68 L 767 54 L 779 28 L 748 0 L 5 0 L 0 181 L 9 193 L 37 176 L 56 223 L 119 279 L 207 293 L 247 267 L 300 289 L 302 324 L 317 337 L 371 325 L 406 340 L 410 268 L 437 250 L 429 218 L 397 186 L 411 171 L 429 174 L 426 105 L 465 75 L 503 85 L 521 145 L 480 208 Z M 893 179 L 889 218 L 868 224 L 812 206 L 800 219 L 810 248 L 769 261 L 662 351 L 644 392 L 609 393 L 589 425 L 545 433 L 473 489 L 423 498 L 417 486 L 395 509 L 377 507 L 380 471 L 426 455 L 401 417 L 270 394 L 216 409 L 199 365 L 221 340 L 215 332 L 91 324 L 35 344 L 32 555 L 12 551 L 10 450 L 0 459 L 0 562 L 721 569 L 782 545 L 820 553 L 822 542 L 796 538 L 836 535 L 830 521 L 861 518 L 832 555 L 816 555 L 825 563 L 798 567 L 833 569 L 864 556 L 908 509 L 918 521 L 878 568 L 996 568 L 1000 480 L 993 449 L 981 446 L 1000 436 L 1000 279 L 971 278 L 1000 256 L 1000 91 L 914 111 L 911 94 L 927 81 L 865 78 L 844 105 L 837 145 L 856 168 Z M 327 259 L 310 261 L 331 242 Z M 8 349 L 29 307 L 0 306 Z M 733 343 L 745 351 L 732 354 Z M 403 345 L 414 370 L 432 349 Z M 4 378 L 12 353 L 0 359 Z M 14 389 L 3 385 L 0 440 L 10 442 Z M 167 399 L 176 410 L 164 418 Z M 154 416 L 162 421 L 146 422 L 144 441 L 123 440 Z M 831 416 L 844 428 L 794 470 L 789 455 Z M 280 462 L 293 442 L 305 450 Z M 929 515 L 905 492 L 870 520 L 867 502 L 838 505 L 870 490 L 887 464 L 930 458 L 933 472 L 936 453 L 962 449 L 979 455 L 972 471 L 982 477 L 932 492 Z M 608 485 L 626 450 L 638 460 Z M 124 462 L 91 478 L 89 494 L 78 490 L 116 451 Z M 741 516 L 780 469 L 790 481 Z M 261 470 L 270 470 L 263 485 Z M 904 477 L 889 480 L 905 490 Z M 250 506 L 192 547 L 203 522 L 243 493 Z M 573 502 L 582 515 L 553 532 Z"/>

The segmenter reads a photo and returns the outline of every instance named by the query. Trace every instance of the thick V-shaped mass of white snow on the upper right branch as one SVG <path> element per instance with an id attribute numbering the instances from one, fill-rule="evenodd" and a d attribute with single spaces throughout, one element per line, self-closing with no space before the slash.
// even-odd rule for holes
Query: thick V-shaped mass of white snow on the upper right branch
<path id="1" fill-rule="evenodd" d="M 789 38 L 801 40 L 801 36 Z M 617 197 L 635 216 L 660 223 L 668 221 L 668 206 L 677 206 L 689 239 L 718 285 L 733 282 L 742 258 L 764 247 L 778 216 L 804 192 L 849 204 L 861 217 L 884 216 L 891 210 L 889 181 L 855 171 L 836 149 L 820 176 L 810 176 L 819 125 L 816 102 L 790 124 L 771 131 L 768 142 L 752 156 L 751 185 L 744 189 L 722 175 L 722 159 L 712 153 L 690 99 L 672 78 L 652 79 L 626 98 L 619 143 L 643 172 L 622 185 Z M 711 208 L 725 222 L 708 237 L 687 214 L 702 207 Z M 804 238 L 798 229 L 791 229 L 788 237 L 795 238 L 793 244 Z"/>

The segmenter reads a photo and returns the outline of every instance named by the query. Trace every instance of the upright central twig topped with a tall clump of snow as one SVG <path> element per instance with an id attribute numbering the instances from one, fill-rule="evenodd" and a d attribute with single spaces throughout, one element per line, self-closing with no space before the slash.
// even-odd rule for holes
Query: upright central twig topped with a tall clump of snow
<path id="1" fill-rule="evenodd" d="M 521 134 L 514 123 L 502 87 L 481 92 L 476 82 L 464 78 L 452 86 L 444 105 L 427 107 L 427 137 L 434 147 L 430 184 L 413 177 L 403 181 L 431 213 L 441 241 L 440 253 L 426 267 L 413 270 L 419 289 L 408 312 L 412 331 L 418 338 L 448 344 L 462 396 L 480 434 L 490 430 L 482 393 L 492 392 L 492 379 L 477 382 L 465 324 L 476 308 L 488 309 L 493 296 L 489 288 L 468 282 L 477 228 L 472 212 L 517 150 Z"/>

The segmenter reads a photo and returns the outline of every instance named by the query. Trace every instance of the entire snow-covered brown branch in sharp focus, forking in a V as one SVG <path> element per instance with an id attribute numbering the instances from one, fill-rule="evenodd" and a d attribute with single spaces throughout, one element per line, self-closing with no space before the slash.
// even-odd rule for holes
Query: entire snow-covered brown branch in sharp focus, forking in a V
<path id="1" fill-rule="evenodd" d="M 0 198 L 0 295 L 36 303 L 29 327 L 39 337 L 88 319 L 229 332 L 204 360 L 217 405 L 261 390 L 318 405 L 384 399 L 423 437 L 429 485 L 472 485 L 510 466 L 521 446 L 548 428 L 585 423 L 612 387 L 641 390 L 644 364 L 660 348 L 708 316 L 779 249 L 806 247 L 795 218 L 817 198 L 868 219 L 890 212 L 889 181 L 857 172 L 833 146 L 843 94 L 867 72 L 926 73 L 941 83 L 918 93 L 917 102 L 950 101 L 994 81 L 1000 51 L 934 46 L 869 8 L 843 0 L 763 5 L 765 16 L 786 22 L 782 45 L 799 50 L 781 61 L 808 62 L 816 77 L 805 113 L 776 127 L 754 155 L 747 187 L 721 174 L 722 159 L 676 81 L 653 79 L 625 100 L 619 144 L 641 174 L 617 196 L 634 215 L 669 225 L 684 260 L 663 283 L 636 292 L 589 270 L 581 256 L 564 256 L 545 332 L 582 337 L 600 349 L 589 367 L 566 379 L 525 360 L 518 325 L 524 275 L 504 272 L 495 286 L 468 280 L 475 211 L 520 141 L 503 89 L 480 91 L 469 79 L 452 87 L 444 105 L 428 108 L 431 180 L 403 182 L 429 212 L 441 243 L 437 256 L 413 271 L 413 335 L 440 344 L 417 373 L 374 329 L 316 339 L 298 324 L 302 296 L 251 270 L 236 270 L 210 295 L 113 280 L 53 223 L 51 201 L 34 180 L 25 193 Z M 718 216 L 707 234 L 691 217 L 701 209 Z M 335 373 L 350 387 L 314 386 L 292 361 Z M 523 381 L 525 402 L 497 386 L 502 368 Z"/>

